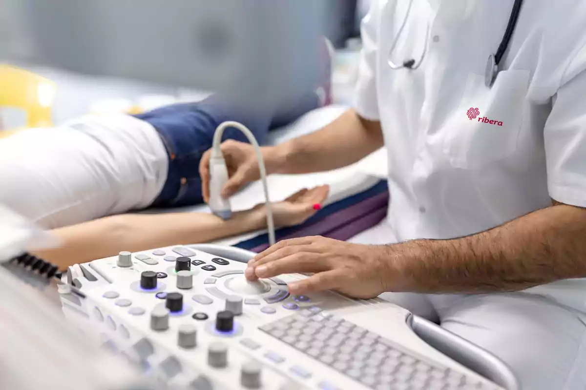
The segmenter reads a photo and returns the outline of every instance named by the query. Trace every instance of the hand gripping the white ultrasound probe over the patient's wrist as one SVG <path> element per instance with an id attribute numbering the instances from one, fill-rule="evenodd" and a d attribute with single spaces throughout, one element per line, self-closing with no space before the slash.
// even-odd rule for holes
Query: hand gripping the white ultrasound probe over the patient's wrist
<path id="1" fill-rule="evenodd" d="M 272 147 L 261 147 L 267 175 L 274 173 L 276 161 L 272 157 Z M 224 155 L 228 176 L 230 179 L 222 188 L 224 199 L 229 198 L 239 191 L 245 184 L 260 179 L 260 170 L 254 147 L 250 144 L 235 140 L 224 141 L 220 145 L 220 150 Z M 199 162 L 199 175 L 202 178 L 202 195 L 203 200 L 207 203 L 210 199 L 210 156 L 212 149 L 203 154 Z"/>

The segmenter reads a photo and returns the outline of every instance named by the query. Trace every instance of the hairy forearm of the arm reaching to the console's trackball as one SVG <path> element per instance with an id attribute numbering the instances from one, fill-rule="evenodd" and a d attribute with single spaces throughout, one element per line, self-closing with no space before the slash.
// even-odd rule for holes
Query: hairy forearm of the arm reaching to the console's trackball
<path id="1" fill-rule="evenodd" d="M 586 277 L 586 210 L 557 205 L 453 240 L 414 240 L 386 248 L 401 277 L 391 291 L 519 291 Z"/>

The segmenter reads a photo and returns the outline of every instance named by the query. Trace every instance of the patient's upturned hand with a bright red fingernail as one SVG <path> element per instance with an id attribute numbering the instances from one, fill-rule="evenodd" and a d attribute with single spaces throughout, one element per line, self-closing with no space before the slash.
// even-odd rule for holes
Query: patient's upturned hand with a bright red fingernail
<path id="1" fill-rule="evenodd" d="M 329 186 L 321 185 L 312 189 L 295 192 L 282 202 L 272 203 L 272 218 L 275 227 L 295 226 L 304 223 L 316 213 L 314 205 L 321 205 L 328 197 Z M 255 209 L 264 209 L 264 203 Z"/>

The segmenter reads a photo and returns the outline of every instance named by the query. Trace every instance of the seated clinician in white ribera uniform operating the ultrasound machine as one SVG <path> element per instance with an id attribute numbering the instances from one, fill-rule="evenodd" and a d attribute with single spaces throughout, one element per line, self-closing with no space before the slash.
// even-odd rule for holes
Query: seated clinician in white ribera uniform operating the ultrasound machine
<path id="1" fill-rule="evenodd" d="M 374 0 L 362 38 L 355 107 L 263 154 L 269 172 L 312 172 L 384 144 L 388 218 L 352 243 L 281 241 L 247 277 L 387 292 L 524 389 L 586 388 L 586 2 Z M 246 144 L 223 150 L 228 196 L 258 165 Z"/>

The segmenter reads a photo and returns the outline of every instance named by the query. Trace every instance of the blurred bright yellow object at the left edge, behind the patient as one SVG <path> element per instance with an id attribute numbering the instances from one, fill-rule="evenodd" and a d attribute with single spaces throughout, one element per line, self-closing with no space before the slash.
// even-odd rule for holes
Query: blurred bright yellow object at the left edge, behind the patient
<path id="1" fill-rule="evenodd" d="M 0 107 L 22 109 L 26 113 L 25 127 L 52 126 L 51 109 L 57 86 L 54 82 L 32 72 L 0 64 Z M 20 129 L 4 129 L 0 138 Z"/>

